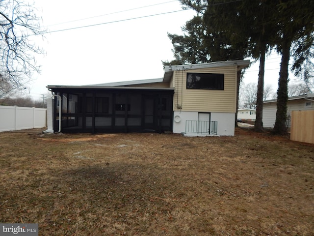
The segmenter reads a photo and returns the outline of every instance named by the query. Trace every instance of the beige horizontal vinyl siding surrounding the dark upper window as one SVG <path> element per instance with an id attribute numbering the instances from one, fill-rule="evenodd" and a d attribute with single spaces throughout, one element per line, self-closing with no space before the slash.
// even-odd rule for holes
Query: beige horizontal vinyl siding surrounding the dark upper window
<path id="1" fill-rule="evenodd" d="M 186 73 L 224 74 L 224 90 L 186 89 Z M 174 111 L 235 113 L 236 66 L 174 71 Z"/>

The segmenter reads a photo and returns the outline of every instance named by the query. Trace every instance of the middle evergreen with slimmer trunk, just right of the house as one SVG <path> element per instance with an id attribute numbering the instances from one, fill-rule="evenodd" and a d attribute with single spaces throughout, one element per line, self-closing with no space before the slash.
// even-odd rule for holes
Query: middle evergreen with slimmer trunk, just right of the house
<path id="1" fill-rule="evenodd" d="M 182 0 L 182 2 L 203 14 L 208 39 L 211 39 L 207 44 L 211 59 L 244 59 L 248 55 L 260 59 L 255 130 L 262 131 L 265 54 L 272 46 L 269 38 L 274 31 L 269 21 L 272 12 L 271 1 Z M 237 79 L 238 88 L 239 84 L 240 72 Z"/>

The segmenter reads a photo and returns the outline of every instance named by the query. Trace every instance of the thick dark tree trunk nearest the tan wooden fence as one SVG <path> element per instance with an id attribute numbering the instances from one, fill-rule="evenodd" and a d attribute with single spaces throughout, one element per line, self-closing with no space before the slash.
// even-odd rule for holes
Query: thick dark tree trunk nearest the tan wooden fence
<path id="1" fill-rule="evenodd" d="M 277 113 L 273 134 L 287 133 L 287 102 L 288 102 L 288 66 L 291 42 L 286 40 L 282 46 L 282 57 L 277 90 Z"/>

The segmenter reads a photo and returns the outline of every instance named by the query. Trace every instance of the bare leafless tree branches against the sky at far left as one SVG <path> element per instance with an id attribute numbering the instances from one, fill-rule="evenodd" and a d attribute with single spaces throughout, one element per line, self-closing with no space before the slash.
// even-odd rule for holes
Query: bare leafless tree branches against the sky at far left
<path id="1" fill-rule="evenodd" d="M 21 88 L 40 70 L 35 55 L 43 49 L 30 40 L 45 33 L 36 11 L 23 0 L 0 0 L 0 75 L 11 89 Z"/>

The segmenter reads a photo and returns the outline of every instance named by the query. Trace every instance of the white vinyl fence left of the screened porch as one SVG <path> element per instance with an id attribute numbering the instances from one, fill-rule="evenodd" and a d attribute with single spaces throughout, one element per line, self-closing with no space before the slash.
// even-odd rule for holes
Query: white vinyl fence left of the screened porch
<path id="1" fill-rule="evenodd" d="M 0 106 L 0 132 L 46 127 L 47 109 Z"/>

